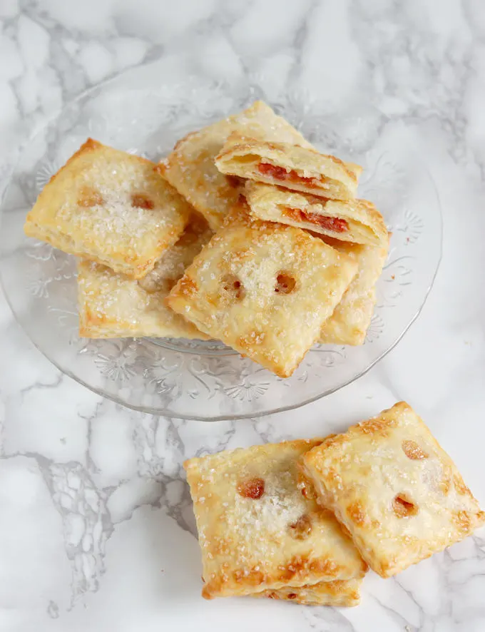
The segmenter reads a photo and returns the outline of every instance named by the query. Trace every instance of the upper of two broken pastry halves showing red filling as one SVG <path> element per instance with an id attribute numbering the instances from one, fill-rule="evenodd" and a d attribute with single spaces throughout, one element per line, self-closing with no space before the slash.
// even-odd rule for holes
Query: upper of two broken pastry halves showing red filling
<path id="1" fill-rule="evenodd" d="M 244 130 L 228 138 L 215 158 L 215 165 L 222 173 L 324 198 L 354 198 L 362 172 L 359 165 L 344 163 L 312 147 L 250 136 L 250 130 Z"/>

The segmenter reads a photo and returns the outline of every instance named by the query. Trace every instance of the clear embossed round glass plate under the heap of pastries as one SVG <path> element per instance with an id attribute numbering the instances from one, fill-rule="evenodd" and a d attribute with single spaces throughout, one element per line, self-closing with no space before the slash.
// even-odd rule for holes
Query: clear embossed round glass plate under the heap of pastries
<path id="1" fill-rule="evenodd" d="M 0 274 L 17 320 L 56 367 L 105 397 L 168 417 L 236 419 L 292 409 L 366 372 L 419 314 L 441 258 L 441 210 L 427 168 L 402 127 L 387 133 L 380 113 L 359 102 L 332 111 L 311 93 L 265 94 L 265 81 L 235 84 L 129 71 L 83 93 L 31 138 L 2 204 Z M 359 196 L 372 200 L 392 230 L 389 260 L 362 347 L 319 346 L 281 379 L 220 343 L 189 340 L 86 340 L 78 337 L 75 260 L 24 237 L 41 188 L 88 136 L 153 160 L 189 131 L 262 98 L 322 151 L 364 167 Z"/>

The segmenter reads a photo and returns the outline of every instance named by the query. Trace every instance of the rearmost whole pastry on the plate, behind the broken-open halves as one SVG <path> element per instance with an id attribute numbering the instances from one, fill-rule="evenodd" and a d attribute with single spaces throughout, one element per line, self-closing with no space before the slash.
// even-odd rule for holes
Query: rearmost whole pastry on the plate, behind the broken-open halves
<path id="1" fill-rule="evenodd" d="M 311 147 L 300 132 L 262 101 L 178 141 L 160 167 L 168 182 L 205 216 L 213 230 L 220 227 L 240 195 L 239 178 L 226 178 L 214 164 L 228 136 L 238 130 L 267 141 Z"/>

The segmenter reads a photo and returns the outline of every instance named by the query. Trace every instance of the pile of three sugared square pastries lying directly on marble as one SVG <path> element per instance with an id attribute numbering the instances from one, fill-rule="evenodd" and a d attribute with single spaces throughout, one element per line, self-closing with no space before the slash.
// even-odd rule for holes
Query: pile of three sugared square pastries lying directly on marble
<path id="1" fill-rule="evenodd" d="M 390 577 L 485 524 L 408 404 L 326 439 L 189 459 L 203 596 L 354 606 L 367 566 Z"/>

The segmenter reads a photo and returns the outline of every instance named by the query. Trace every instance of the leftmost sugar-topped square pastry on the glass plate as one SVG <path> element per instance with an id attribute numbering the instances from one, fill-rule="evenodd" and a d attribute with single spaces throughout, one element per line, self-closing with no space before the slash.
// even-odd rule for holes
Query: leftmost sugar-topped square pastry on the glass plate
<path id="1" fill-rule="evenodd" d="M 190 208 L 150 160 L 89 138 L 44 187 L 24 230 L 139 279 L 178 240 Z"/>

